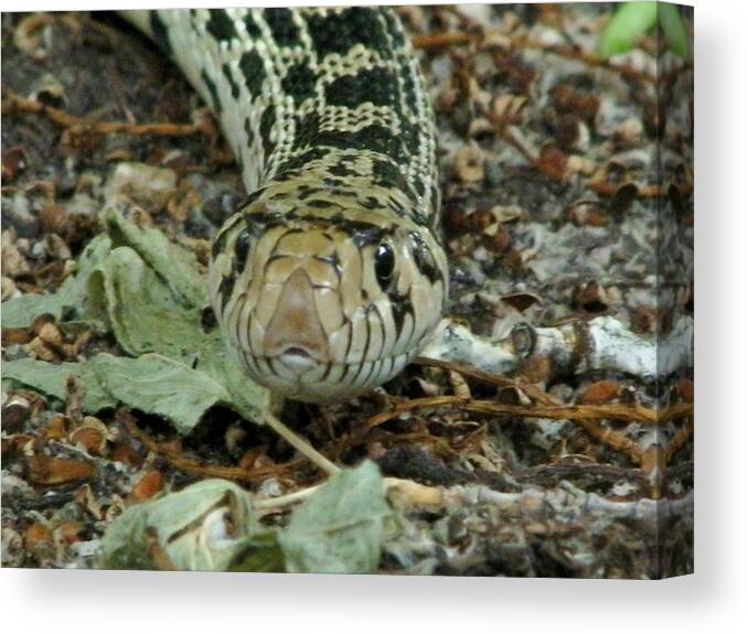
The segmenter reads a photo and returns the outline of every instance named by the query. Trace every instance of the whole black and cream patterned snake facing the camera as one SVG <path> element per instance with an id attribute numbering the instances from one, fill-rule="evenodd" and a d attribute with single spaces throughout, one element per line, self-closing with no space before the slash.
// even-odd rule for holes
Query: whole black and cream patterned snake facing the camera
<path id="1" fill-rule="evenodd" d="M 212 109 L 248 196 L 211 244 L 229 352 L 285 397 L 331 402 L 400 373 L 449 277 L 435 115 L 392 8 L 124 11 Z"/>

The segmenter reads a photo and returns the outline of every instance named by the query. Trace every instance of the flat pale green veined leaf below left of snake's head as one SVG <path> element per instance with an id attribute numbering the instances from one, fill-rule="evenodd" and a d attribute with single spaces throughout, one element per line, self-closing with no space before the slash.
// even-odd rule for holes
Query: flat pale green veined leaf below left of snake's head
<path id="1" fill-rule="evenodd" d="M 232 399 L 207 375 L 158 354 L 138 358 L 99 354 L 93 359 L 101 387 L 118 401 L 170 420 L 186 434 L 211 407 Z"/>

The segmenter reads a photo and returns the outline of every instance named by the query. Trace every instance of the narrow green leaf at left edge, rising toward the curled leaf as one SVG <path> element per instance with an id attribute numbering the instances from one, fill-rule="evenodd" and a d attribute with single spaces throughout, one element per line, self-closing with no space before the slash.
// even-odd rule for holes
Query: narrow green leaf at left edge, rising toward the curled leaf
<path id="1" fill-rule="evenodd" d="M 104 261 L 110 248 L 111 241 L 108 236 L 97 236 L 84 249 L 77 264 L 77 272 L 68 277 L 56 292 L 43 295 L 25 294 L 3 302 L 2 327 L 28 327 L 34 318 L 41 314 L 51 314 L 56 320 L 71 316 L 85 321 L 90 316 L 85 310 L 88 277 Z"/>

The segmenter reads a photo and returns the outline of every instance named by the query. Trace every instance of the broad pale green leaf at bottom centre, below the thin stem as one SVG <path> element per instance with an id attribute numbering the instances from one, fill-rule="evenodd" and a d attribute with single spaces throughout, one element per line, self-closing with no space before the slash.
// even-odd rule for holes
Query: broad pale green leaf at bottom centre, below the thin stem
<path id="1" fill-rule="evenodd" d="M 378 468 L 333 475 L 291 515 L 279 544 L 288 572 L 368 573 L 380 563 L 391 515 Z"/>

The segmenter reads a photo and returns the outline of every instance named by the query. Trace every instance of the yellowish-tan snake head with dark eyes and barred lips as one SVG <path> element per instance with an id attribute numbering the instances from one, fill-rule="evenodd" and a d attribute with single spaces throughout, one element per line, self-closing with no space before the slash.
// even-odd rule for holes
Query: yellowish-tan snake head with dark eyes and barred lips
<path id="1" fill-rule="evenodd" d="M 247 374 L 310 402 L 351 398 L 400 372 L 447 294 L 446 257 L 428 228 L 340 200 L 250 203 L 217 236 L 210 278 L 224 340 Z"/>

